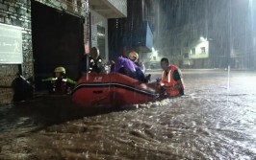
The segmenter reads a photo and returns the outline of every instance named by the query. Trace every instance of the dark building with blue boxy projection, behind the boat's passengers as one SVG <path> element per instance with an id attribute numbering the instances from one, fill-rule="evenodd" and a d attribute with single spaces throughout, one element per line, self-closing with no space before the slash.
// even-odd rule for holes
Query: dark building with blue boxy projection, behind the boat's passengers
<path id="1" fill-rule="evenodd" d="M 153 47 L 153 9 L 151 0 L 127 1 L 127 18 L 109 19 L 110 58 L 125 56 L 135 50 L 141 55 Z"/>

